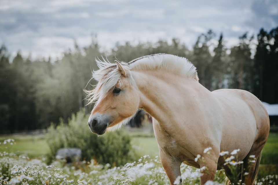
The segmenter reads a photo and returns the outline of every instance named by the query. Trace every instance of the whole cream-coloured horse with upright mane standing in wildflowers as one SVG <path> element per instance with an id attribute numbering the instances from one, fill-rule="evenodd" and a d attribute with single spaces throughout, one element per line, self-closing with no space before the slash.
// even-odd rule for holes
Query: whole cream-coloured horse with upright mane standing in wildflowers
<path id="1" fill-rule="evenodd" d="M 93 77 L 98 84 L 87 91 L 89 103 L 96 102 L 88 121 L 92 132 L 117 129 L 143 109 L 153 117 L 160 160 L 171 184 L 181 175 L 182 162 L 206 166 L 201 184 L 213 180 L 224 163 L 220 152 L 233 149 L 240 149 L 238 160 L 244 162 L 237 165 L 238 180 L 254 183 L 269 132 L 268 114 L 257 97 L 239 89 L 207 90 L 198 82 L 195 66 L 178 56 L 115 62 L 97 61 L 100 69 Z M 203 153 L 207 147 L 212 147 L 210 154 Z M 195 162 L 197 154 L 204 160 Z M 248 166 L 250 155 L 256 162 Z M 226 174 L 231 175 L 228 169 Z"/>

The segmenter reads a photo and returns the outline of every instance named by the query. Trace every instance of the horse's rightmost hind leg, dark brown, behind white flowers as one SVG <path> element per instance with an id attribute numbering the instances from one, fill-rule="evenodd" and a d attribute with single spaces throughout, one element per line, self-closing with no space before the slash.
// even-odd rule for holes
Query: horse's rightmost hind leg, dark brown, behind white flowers
<path id="1" fill-rule="evenodd" d="M 242 182 L 246 185 L 252 185 L 255 183 L 256 177 L 259 172 L 259 164 L 261 160 L 261 152 L 253 154 L 255 158 L 250 158 L 250 155 L 247 155 L 243 160 L 242 168 Z"/>

